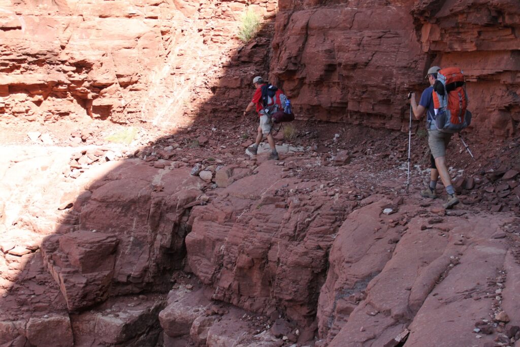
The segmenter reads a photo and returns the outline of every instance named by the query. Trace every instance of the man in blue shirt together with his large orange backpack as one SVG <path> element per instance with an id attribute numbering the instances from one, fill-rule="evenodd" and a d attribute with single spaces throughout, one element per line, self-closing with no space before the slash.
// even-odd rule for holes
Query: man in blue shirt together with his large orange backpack
<path id="1" fill-rule="evenodd" d="M 440 175 L 448 194 L 448 200 L 443 207 L 451 209 L 459 203 L 459 199 L 455 195 L 446 166 L 446 147 L 453 133 L 459 132 L 471 122 L 471 113 L 466 110 L 464 76 L 459 68 L 441 70 L 438 66 L 433 66 L 428 69 L 426 78 L 430 86 L 424 89 L 419 105 L 415 101 L 415 93 L 411 92 L 408 96 L 411 98 L 411 109 L 415 119 L 421 119 L 426 113 L 428 145 L 432 152 L 430 185 L 421 190 L 421 196 L 437 198 L 435 188 Z"/>

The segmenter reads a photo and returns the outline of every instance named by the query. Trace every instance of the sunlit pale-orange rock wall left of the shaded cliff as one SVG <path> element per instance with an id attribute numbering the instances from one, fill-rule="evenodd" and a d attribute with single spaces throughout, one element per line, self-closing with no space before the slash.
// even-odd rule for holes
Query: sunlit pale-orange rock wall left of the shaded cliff
<path id="1" fill-rule="evenodd" d="M 276 1 L 251 7 L 269 26 Z M 242 49 L 237 34 L 247 8 L 184 0 L 0 1 L 3 121 L 175 126 L 208 110 L 242 109 L 222 95 L 246 104 L 269 54 L 262 38 L 252 42 L 261 48 L 253 58 L 253 46 Z M 226 73 L 233 63 L 240 72 Z"/>

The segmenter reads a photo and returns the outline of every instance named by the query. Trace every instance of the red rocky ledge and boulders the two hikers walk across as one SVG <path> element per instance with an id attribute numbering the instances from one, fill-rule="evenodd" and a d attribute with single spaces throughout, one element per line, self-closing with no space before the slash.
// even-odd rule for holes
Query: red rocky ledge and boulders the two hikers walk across
<path id="1" fill-rule="evenodd" d="M 0 341 L 517 340 L 520 168 L 518 158 L 506 172 L 493 164 L 516 147 L 473 162 L 455 145 L 463 202 L 445 211 L 418 195 L 424 166 L 406 192 L 404 134 L 300 123 L 275 162 L 244 154 L 238 134 L 254 120 L 231 139 L 229 126 L 192 127 L 113 160 L 110 144 L 4 147 Z M 413 144 L 420 163 L 425 144 Z M 70 158 L 93 147 L 98 160 L 71 177 Z M 36 189 L 22 188 L 29 180 Z"/>

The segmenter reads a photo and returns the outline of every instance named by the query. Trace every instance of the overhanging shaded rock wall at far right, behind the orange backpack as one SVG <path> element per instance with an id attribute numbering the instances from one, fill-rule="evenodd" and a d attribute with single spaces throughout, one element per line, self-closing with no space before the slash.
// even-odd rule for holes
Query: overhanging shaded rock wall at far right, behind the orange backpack
<path id="1" fill-rule="evenodd" d="M 520 123 L 520 5 L 515 1 L 422 1 L 412 15 L 421 48 L 467 76 L 475 130 L 511 136 Z"/>

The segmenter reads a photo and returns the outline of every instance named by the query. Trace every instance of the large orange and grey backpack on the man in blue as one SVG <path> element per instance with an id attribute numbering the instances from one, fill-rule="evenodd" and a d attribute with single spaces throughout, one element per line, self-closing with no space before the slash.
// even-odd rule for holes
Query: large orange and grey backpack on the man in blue
<path id="1" fill-rule="evenodd" d="M 457 133 L 471 124 L 467 110 L 466 82 L 459 68 L 446 68 L 437 72 L 433 85 L 433 107 L 437 129 Z"/>

